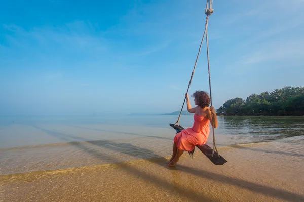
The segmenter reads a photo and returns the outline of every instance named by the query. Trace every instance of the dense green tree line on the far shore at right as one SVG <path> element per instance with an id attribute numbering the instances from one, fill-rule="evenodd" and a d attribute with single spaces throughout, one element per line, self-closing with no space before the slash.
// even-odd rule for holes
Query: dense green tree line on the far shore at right
<path id="1" fill-rule="evenodd" d="M 229 99 L 216 111 L 219 115 L 304 116 L 304 87 L 286 86 L 252 94 L 246 100 Z"/>

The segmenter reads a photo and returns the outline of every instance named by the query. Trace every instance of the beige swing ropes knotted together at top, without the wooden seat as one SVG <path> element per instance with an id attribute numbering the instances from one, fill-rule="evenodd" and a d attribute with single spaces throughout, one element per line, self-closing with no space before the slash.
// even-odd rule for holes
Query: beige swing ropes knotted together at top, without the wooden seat
<path id="1" fill-rule="evenodd" d="M 209 3 L 209 5 L 208 5 L 208 3 Z M 207 28 L 208 28 L 209 16 L 214 12 L 214 10 L 212 9 L 212 4 L 213 4 L 213 0 L 207 0 L 206 9 L 205 9 L 205 14 L 206 14 L 205 31 L 204 31 L 204 34 L 203 34 L 203 38 L 202 38 L 202 41 L 201 41 L 201 44 L 200 44 L 199 52 L 198 52 L 198 55 L 197 55 L 197 58 L 196 58 L 196 61 L 195 61 L 195 64 L 194 64 L 194 68 L 193 68 L 192 75 L 191 75 L 191 78 L 190 78 L 190 81 L 189 81 L 189 85 L 188 85 L 188 88 L 187 88 L 187 92 L 186 92 L 186 93 L 188 93 L 188 91 L 189 91 L 189 88 L 190 88 L 190 85 L 191 85 L 191 82 L 192 82 L 192 78 L 193 78 L 193 75 L 194 75 L 194 71 L 195 71 L 195 68 L 196 68 L 196 64 L 197 64 L 197 61 L 198 61 L 198 58 L 199 58 L 199 55 L 200 55 L 200 52 L 201 52 L 201 47 L 202 47 L 202 44 L 203 44 L 203 41 L 204 41 L 204 38 L 205 38 L 205 35 L 206 35 L 207 62 L 208 62 L 209 90 L 210 90 L 210 104 L 211 104 L 211 106 L 212 106 L 212 93 L 211 93 L 209 45 L 208 45 L 208 29 Z M 178 119 L 177 119 L 177 122 L 175 123 L 175 125 L 178 124 L 178 126 L 179 126 L 179 120 L 180 120 L 180 116 L 181 116 L 181 112 L 182 112 L 183 106 L 185 104 L 185 100 L 186 100 L 186 97 L 184 98 L 184 101 L 183 101 L 183 104 L 182 104 L 182 107 L 181 107 L 181 110 L 180 110 L 180 113 L 179 113 L 179 116 L 178 116 Z M 214 121 L 214 117 L 213 117 L 212 113 L 211 113 L 211 116 L 212 116 L 212 122 L 213 122 Z M 215 133 L 214 133 L 214 127 L 213 127 L 214 124 L 211 124 L 211 125 L 212 125 L 212 132 L 213 132 L 212 157 L 213 157 L 213 154 L 214 154 L 214 150 L 216 150 L 217 156 L 219 158 L 219 154 L 218 154 L 218 151 L 217 151 L 217 148 L 216 148 L 216 142 L 215 142 Z"/>

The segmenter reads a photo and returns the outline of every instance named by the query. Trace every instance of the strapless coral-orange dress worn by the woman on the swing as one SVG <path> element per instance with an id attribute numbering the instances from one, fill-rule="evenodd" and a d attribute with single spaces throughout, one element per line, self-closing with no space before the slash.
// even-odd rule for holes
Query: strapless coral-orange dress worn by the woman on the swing
<path id="1" fill-rule="evenodd" d="M 208 118 L 194 114 L 192 128 L 187 128 L 177 133 L 174 142 L 180 150 L 192 151 L 196 145 L 205 144 L 210 133 Z"/>

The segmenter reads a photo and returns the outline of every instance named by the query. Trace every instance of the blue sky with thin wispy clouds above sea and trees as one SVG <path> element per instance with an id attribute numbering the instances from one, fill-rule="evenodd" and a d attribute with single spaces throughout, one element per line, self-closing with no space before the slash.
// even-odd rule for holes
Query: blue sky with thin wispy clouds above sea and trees
<path id="1" fill-rule="evenodd" d="M 205 4 L 2 2 L 1 114 L 180 110 L 204 31 Z M 303 86 L 304 1 L 214 0 L 213 8 L 208 35 L 214 107 Z M 189 93 L 209 92 L 207 68 L 204 41 Z"/>

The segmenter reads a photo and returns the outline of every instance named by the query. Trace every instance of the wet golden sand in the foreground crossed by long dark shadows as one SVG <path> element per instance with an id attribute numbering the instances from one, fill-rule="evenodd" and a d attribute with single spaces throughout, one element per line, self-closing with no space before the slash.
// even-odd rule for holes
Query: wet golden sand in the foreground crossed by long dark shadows
<path id="1" fill-rule="evenodd" d="M 175 168 L 166 166 L 170 156 L 156 154 L 159 149 L 141 146 L 140 153 L 155 154 L 149 159 L 1 175 L 0 201 L 304 201 L 302 144 L 220 147 L 224 165 L 196 149 L 193 159 L 184 153 Z M 94 148 L 86 152 L 112 162 L 120 158 Z"/>

